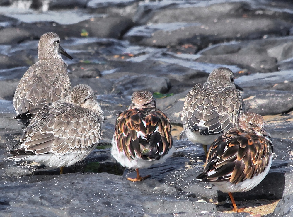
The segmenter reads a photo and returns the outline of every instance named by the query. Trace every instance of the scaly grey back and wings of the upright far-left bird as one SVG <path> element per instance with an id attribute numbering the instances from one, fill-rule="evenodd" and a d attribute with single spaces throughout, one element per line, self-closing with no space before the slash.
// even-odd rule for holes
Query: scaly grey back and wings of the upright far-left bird
<path id="1" fill-rule="evenodd" d="M 66 65 L 64 62 L 57 63 L 37 62 L 25 72 L 13 97 L 18 115 L 69 95 L 71 84 Z"/>

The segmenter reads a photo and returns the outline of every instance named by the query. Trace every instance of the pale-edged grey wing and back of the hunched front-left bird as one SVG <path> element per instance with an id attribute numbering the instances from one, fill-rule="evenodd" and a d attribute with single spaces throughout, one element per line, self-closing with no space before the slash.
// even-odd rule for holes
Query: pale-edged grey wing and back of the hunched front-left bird
<path id="1" fill-rule="evenodd" d="M 27 153 L 34 154 L 64 155 L 85 152 L 99 141 L 103 118 L 86 108 L 61 104 L 52 103 L 39 111 L 25 128 L 20 149 L 25 148 Z"/>

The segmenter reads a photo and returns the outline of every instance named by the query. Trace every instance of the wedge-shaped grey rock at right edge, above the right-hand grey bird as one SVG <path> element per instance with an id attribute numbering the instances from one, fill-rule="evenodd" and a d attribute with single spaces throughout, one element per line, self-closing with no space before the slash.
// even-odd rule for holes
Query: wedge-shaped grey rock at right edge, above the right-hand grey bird
<path id="1" fill-rule="evenodd" d="M 196 61 L 236 64 L 253 73 L 287 70 L 291 47 L 292 36 L 223 43 L 200 51 Z"/>

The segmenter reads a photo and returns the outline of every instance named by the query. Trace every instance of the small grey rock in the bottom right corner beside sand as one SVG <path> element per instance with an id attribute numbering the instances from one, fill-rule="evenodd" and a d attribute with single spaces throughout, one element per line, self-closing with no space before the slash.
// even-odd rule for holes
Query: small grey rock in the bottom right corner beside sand
<path id="1" fill-rule="evenodd" d="M 278 203 L 274 212 L 273 217 L 285 217 L 293 215 L 293 194 L 284 196 Z"/>

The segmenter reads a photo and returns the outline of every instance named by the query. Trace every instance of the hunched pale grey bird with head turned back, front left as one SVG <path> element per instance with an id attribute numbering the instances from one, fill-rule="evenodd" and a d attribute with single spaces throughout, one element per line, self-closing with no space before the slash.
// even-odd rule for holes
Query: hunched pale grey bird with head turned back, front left
<path id="1" fill-rule="evenodd" d="M 68 167 L 83 160 L 95 147 L 104 123 L 93 90 L 84 84 L 70 96 L 42 107 L 11 150 L 15 161 L 35 161 L 47 167 Z M 13 148 L 14 148 L 13 147 Z"/>

